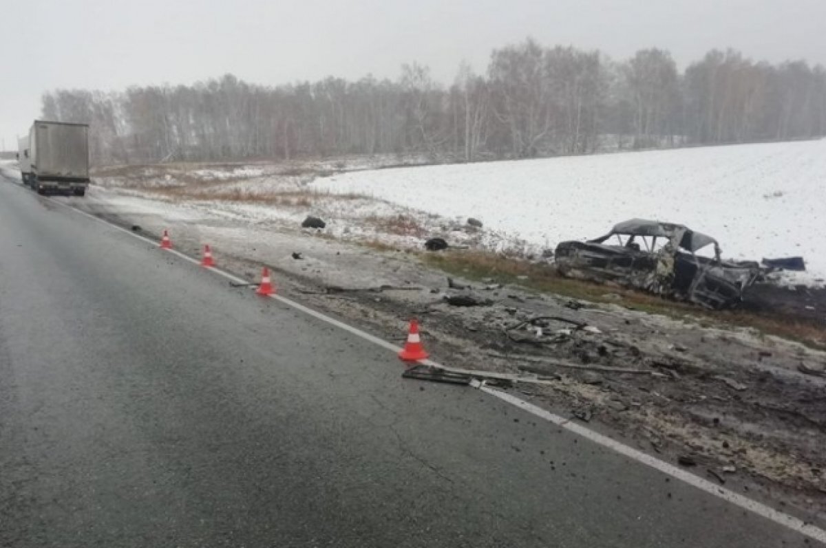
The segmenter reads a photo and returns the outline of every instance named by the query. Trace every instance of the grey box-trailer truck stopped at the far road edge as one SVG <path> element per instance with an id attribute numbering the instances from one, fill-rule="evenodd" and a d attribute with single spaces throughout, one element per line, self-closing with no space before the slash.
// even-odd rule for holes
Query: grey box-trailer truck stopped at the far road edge
<path id="1" fill-rule="evenodd" d="M 20 139 L 23 183 L 37 191 L 85 196 L 89 185 L 89 125 L 35 120 Z"/>

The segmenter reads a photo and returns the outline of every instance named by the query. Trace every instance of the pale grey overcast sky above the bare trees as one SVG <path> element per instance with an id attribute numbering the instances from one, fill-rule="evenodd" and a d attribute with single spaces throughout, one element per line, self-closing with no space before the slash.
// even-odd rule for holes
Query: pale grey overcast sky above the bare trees
<path id="1" fill-rule="evenodd" d="M 681 66 L 729 46 L 826 64 L 826 0 L 0 0 L 0 20 L 7 149 L 56 87 L 396 78 L 414 60 L 448 83 L 528 35 L 616 59 L 657 46 Z"/>

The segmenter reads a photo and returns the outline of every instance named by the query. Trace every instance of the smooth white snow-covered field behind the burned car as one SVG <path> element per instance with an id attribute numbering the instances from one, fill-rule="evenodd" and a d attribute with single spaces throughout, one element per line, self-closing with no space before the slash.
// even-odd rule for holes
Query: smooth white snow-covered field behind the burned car
<path id="1" fill-rule="evenodd" d="M 826 139 L 350 172 L 312 187 L 477 217 L 553 248 L 634 217 L 686 224 L 724 257 L 805 257 L 826 276 Z"/>

